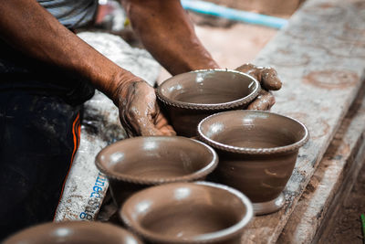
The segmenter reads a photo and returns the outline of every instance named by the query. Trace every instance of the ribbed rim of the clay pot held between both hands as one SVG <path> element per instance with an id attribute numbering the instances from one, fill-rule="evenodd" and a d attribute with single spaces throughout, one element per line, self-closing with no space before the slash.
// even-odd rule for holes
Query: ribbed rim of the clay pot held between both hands
<path id="1" fill-rule="evenodd" d="M 177 108 L 182 108 L 182 109 L 190 109 L 190 110 L 224 110 L 224 109 L 234 109 L 236 107 L 245 105 L 250 101 L 253 101 L 255 99 L 255 97 L 258 95 L 258 92 L 261 90 L 260 83 L 257 80 L 255 80 L 254 77 L 252 77 L 250 75 L 247 75 L 243 72 L 234 70 L 234 69 L 198 69 L 198 70 L 193 70 L 193 71 L 190 71 L 190 72 L 182 73 L 182 74 L 179 74 L 179 75 L 188 74 L 188 73 L 209 72 L 209 71 L 234 72 L 234 73 L 243 75 L 243 76 L 249 78 L 250 80 L 252 80 L 254 82 L 255 88 L 247 96 L 245 96 L 241 99 L 238 99 L 238 100 L 234 100 L 234 101 L 227 101 L 227 102 L 214 103 L 214 104 L 193 103 L 193 102 L 186 102 L 186 101 L 175 101 L 175 100 L 172 100 L 172 99 L 166 97 L 162 93 L 163 86 L 166 86 L 169 83 L 169 80 L 175 79 L 175 76 L 173 76 L 172 78 L 163 81 L 162 84 L 157 88 L 157 90 L 156 90 L 157 97 L 160 99 L 160 101 L 162 101 L 165 104 L 168 104 L 168 105 L 171 105 L 171 106 L 177 107 Z"/>

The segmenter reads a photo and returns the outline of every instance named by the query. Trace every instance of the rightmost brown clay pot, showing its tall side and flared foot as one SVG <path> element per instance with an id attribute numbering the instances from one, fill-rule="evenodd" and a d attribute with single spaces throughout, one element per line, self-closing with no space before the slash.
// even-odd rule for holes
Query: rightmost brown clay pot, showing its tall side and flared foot
<path id="1" fill-rule="evenodd" d="M 283 189 L 308 141 L 303 123 L 268 111 L 224 111 L 200 122 L 198 133 L 219 155 L 213 181 L 243 192 L 256 215 L 284 205 Z"/>

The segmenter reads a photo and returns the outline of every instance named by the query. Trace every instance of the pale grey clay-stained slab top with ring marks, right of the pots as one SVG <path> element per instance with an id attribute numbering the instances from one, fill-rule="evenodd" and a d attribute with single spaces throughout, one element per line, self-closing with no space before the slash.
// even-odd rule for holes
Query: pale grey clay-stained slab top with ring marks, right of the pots
<path id="1" fill-rule="evenodd" d="M 354 101 L 365 67 L 365 3 L 308 0 L 269 42 L 255 64 L 273 66 L 284 82 L 272 111 L 304 122 L 311 135 L 285 189 L 286 205 L 255 217 L 243 243 L 274 243 Z"/>

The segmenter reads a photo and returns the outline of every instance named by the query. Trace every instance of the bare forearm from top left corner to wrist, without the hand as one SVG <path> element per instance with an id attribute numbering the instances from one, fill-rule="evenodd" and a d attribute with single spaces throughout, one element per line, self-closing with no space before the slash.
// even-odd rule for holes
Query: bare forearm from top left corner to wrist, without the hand
<path id="1" fill-rule="evenodd" d="M 0 3 L 0 37 L 27 56 L 89 80 L 111 99 L 121 81 L 137 79 L 63 27 L 35 0 Z"/>

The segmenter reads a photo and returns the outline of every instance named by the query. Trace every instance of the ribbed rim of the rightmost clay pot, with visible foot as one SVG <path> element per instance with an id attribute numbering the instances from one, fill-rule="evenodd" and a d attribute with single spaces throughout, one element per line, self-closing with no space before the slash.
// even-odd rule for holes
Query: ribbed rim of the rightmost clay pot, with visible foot
<path id="1" fill-rule="evenodd" d="M 199 122 L 198 134 L 204 143 L 207 143 L 207 144 L 213 146 L 214 148 L 220 149 L 222 151 L 227 151 L 227 152 L 237 153 L 237 154 L 278 154 L 278 153 L 288 153 L 288 152 L 296 151 L 297 149 L 299 149 L 301 146 L 303 146 L 305 143 L 308 142 L 309 132 L 308 132 L 306 125 L 304 125 L 304 123 L 299 122 L 298 120 L 296 120 L 292 117 L 289 117 L 287 115 L 282 115 L 282 114 L 272 112 L 272 111 L 249 111 L 249 112 L 270 113 L 275 116 L 284 117 L 284 118 L 287 118 L 294 122 L 297 122 L 304 129 L 305 134 L 304 134 L 303 138 L 300 139 L 299 141 L 297 141 L 296 143 L 291 143 L 291 144 L 288 144 L 285 146 L 277 146 L 277 147 L 270 147 L 270 148 L 249 148 L 249 147 L 239 147 L 239 146 L 227 145 L 224 143 L 218 143 L 218 142 L 210 139 L 209 137 L 207 137 L 205 134 L 203 134 L 203 132 L 202 132 L 203 122 L 210 120 L 214 116 L 219 116 L 222 113 L 230 113 L 230 112 L 235 112 L 235 111 L 217 112 L 217 113 L 214 113 L 213 115 L 210 115 L 210 116 L 204 118 L 201 122 Z M 243 112 L 245 112 L 245 110 L 243 110 Z M 248 112 L 248 111 L 246 111 L 246 112 Z"/>

